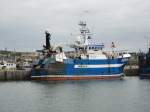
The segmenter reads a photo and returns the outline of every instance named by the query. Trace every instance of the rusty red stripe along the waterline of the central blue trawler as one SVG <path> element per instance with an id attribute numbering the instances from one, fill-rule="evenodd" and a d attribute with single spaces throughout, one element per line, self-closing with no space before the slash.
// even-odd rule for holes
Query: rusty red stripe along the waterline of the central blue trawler
<path id="1" fill-rule="evenodd" d="M 33 80 L 64 81 L 64 80 L 98 80 L 119 79 L 121 76 L 90 76 L 90 77 L 32 77 Z"/>

